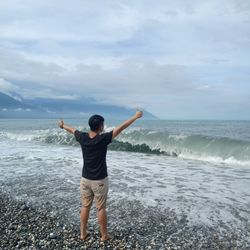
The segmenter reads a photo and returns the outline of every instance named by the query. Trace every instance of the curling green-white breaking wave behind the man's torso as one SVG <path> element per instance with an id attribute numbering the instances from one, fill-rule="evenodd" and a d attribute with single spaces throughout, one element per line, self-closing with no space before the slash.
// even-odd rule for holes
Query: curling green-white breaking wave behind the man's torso
<path id="1" fill-rule="evenodd" d="M 78 145 L 74 136 L 58 129 L 1 133 L 1 138 Z M 109 145 L 110 150 L 162 154 L 186 159 L 250 165 L 250 141 L 205 135 L 169 134 L 146 129 L 127 130 Z"/>

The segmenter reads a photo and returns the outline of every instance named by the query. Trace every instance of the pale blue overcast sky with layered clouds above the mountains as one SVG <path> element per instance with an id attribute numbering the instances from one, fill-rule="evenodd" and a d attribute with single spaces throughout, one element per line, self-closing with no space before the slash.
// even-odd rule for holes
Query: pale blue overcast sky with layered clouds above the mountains
<path id="1" fill-rule="evenodd" d="M 0 91 L 249 119 L 250 1 L 0 1 Z"/>

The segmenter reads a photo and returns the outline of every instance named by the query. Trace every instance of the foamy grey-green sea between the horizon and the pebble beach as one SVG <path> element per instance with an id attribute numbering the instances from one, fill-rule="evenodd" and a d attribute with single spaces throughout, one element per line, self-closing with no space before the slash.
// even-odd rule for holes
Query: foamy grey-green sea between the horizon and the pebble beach
<path id="1" fill-rule="evenodd" d="M 109 131 L 121 121 L 106 121 Z M 65 123 L 87 130 L 86 120 Z M 78 221 L 81 149 L 57 120 L 0 119 L 0 186 Z M 109 147 L 110 202 L 139 200 L 190 224 L 249 227 L 250 121 L 144 121 Z M 247 240 L 247 239 L 246 239 Z"/>

